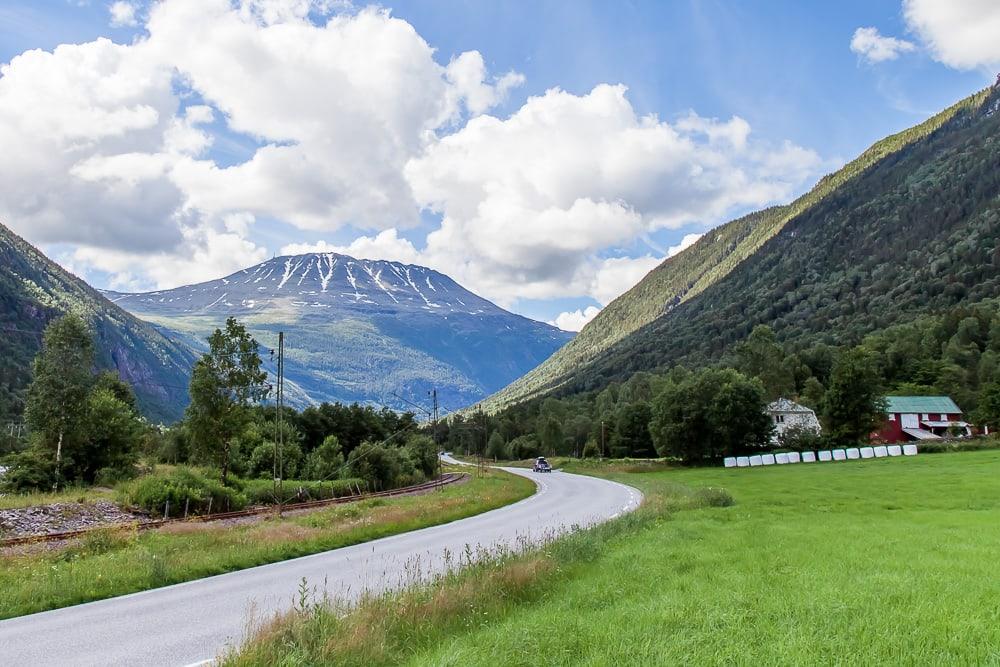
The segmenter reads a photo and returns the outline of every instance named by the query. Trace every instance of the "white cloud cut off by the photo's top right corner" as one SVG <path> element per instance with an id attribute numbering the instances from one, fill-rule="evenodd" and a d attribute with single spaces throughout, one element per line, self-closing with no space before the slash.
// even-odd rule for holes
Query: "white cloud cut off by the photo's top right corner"
<path id="1" fill-rule="evenodd" d="M 1000 66 L 996 0 L 904 0 L 903 17 L 935 60 L 962 70 Z"/>

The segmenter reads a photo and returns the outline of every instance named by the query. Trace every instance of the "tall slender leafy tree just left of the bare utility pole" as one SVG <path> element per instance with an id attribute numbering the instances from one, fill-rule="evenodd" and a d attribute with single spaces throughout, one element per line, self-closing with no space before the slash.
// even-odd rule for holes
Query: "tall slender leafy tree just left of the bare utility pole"
<path id="1" fill-rule="evenodd" d="M 219 467 L 225 484 L 247 408 L 267 395 L 267 374 L 261 369 L 257 341 L 235 318 L 226 320 L 225 331 L 216 329 L 208 345 L 191 373 L 187 422 L 195 450 Z"/>

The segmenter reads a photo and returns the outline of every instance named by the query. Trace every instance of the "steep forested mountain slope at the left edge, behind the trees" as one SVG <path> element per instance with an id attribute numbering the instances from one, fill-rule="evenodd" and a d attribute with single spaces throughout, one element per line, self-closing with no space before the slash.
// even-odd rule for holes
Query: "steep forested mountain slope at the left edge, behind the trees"
<path id="1" fill-rule="evenodd" d="M 97 365 L 132 385 L 143 414 L 153 421 L 180 417 L 193 353 L 0 225 L 0 421 L 19 417 L 41 334 L 70 312 L 93 328 Z"/>

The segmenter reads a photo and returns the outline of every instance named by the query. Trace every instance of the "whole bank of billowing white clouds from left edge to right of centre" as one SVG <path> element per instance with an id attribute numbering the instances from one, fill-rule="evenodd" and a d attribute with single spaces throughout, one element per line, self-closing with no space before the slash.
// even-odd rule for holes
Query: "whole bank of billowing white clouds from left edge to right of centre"
<path id="1" fill-rule="evenodd" d="M 138 21 L 138 6 L 109 9 Z M 609 255 L 786 199 L 821 167 L 737 116 L 640 115 L 624 86 L 552 89 L 495 117 L 523 76 L 491 73 L 475 51 L 438 62 L 387 10 L 338 8 L 163 0 L 130 44 L 15 57 L 0 77 L 0 219 L 73 245 L 74 266 L 119 287 L 260 261 L 253 223 L 274 218 L 362 229 L 316 247 L 431 266 L 502 304 L 603 305 L 662 260 Z M 231 135 L 245 158 L 217 160 Z M 440 224 L 418 248 L 397 230 L 421 225 L 421 209 Z"/>

